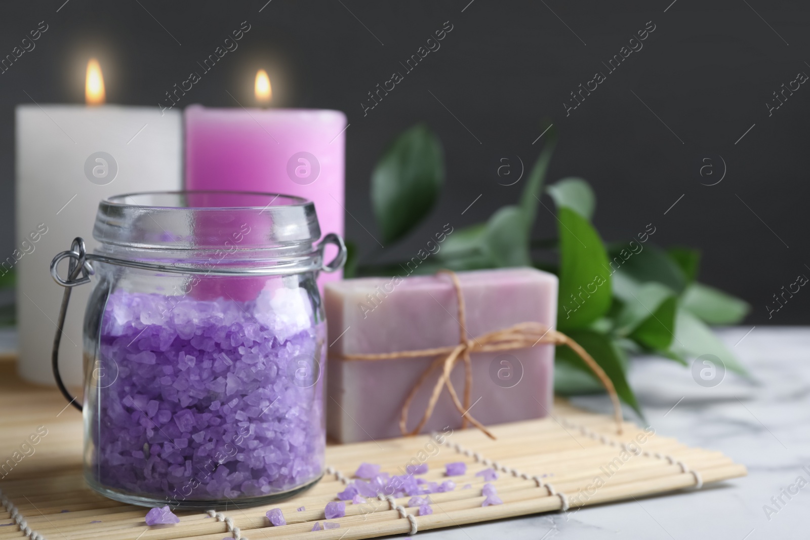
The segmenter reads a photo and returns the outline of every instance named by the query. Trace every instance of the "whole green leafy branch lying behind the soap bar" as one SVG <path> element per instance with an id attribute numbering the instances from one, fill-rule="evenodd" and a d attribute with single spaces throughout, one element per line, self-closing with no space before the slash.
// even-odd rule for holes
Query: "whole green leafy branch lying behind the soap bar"
<path id="1" fill-rule="evenodd" d="M 651 353 L 684 365 L 691 357 L 711 354 L 731 371 L 745 374 L 708 325 L 740 322 L 750 306 L 697 283 L 700 253 L 659 248 L 650 240 L 653 223 L 629 242 L 606 245 L 591 223 L 596 198 L 585 180 L 567 177 L 544 185 L 556 136 L 549 132 L 548 140 L 518 203 L 502 206 L 486 222 L 447 236 L 436 253 L 437 262 L 420 266 L 416 273 L 509 266 L 555 270 L 560 283 L 557 329 L 585 347 L 608 373 L 620 398 L 639 415 L 642 410 L 627 381 L 630 354 Z M 429 215 L 444 178 L 441 142 L 427 125 L 415 125 L 394 139 L 374 168 L 371 184 L 374 215 L 386 244 L 403 239 Z M 556 207 L 558 234 L 532 240 L 544 194 Z M 556 268 L 533 257 L 544 252 L 556 255 Z M 399 268 L 397 263 L 360 264 L 350 246 L 345 274 L 390 275 Z M 555 390 L 602 391 L 582 360 L 566 347 L 556 350 Z"/>

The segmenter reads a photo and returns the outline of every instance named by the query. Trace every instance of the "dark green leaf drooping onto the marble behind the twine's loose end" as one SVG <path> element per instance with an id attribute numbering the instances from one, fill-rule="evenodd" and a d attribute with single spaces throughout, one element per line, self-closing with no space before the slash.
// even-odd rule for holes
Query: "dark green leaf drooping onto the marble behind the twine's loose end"
<path id="1" fill-rule="evenodd" d="M 616 387 L 616 393 L 619 398 L 632 406 L 633 409 L 642 415 L 641 406 L 638 405 L 633 389 L 627 382 L 625 376 L 625 366 L 627 359 L 624 358 L 624 352 L 620 347 L 617 347 L 605 334 L 599 334 L 593 330 L 572 330 L 568 332 L 569 338 L 578 342 L 588 353 L 594 357 L 596 363 L 608 375 L 608 378 L 613 382 Z M 588 373 L 595 381 L 599 381 L 597 377 L 590 371 L 587 364 L 569 347 L 560 346 L 556 348 L 555 355 L 556 362 L 565 363 L 573 368 L 578 368 L 581 372 Z M 555 366 L 556 368 L 556 366 Z"/>

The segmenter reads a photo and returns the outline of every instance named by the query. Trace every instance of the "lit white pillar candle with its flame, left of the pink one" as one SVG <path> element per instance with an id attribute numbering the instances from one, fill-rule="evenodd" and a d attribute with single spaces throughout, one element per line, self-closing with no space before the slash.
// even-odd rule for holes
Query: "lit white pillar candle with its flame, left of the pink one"
<path id="1" fill-rule="evenodd" d="M 103 79 L 91 68 L 93 61 L 88 64 L 87 101 L 103 103 Z M 16 250 L 0 261 L 0 274 L 14 266 L 18 276 L 18 369 L 24 379 L 53 384 L 51 347 L 62 287 L 50 277 L 51 259 L 70 249 L 76 236 L 92 250 L 101 199 L 181 189 L 181 124 L 181 113 L 151 107 L 17 107 Z M 90 288 L 75 287 L 70 298 L 60 354 L 67 385 L 83 381 L 82 324 Z"/>

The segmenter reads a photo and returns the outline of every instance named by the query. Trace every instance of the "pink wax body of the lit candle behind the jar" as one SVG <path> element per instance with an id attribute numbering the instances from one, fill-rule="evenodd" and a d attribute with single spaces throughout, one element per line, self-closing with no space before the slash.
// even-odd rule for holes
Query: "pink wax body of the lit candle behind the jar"
<path id="1" fill-rule="evenodd" d="M 310 109 L 185 109 L 186 189 L 284 193 L 315 203 L 322 235 L 343 236 L 346 115 Z M 326 258 L 334 256 L 327 250 Z M 321 274 L 318 283 L 340 279 Z"/>

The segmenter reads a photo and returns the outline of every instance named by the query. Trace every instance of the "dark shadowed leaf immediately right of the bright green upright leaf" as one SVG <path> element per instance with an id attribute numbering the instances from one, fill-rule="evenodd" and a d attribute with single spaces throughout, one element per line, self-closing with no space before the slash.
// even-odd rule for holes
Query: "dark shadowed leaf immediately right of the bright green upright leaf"
<path id="1" fill-rule="evenodd" d="M 635 240 L 627 244 L 611 244 L 610 268 L 639 283 L 658 282 L 677 294 L 684 291 L 686 277 L 663 249 L 654 244 L 642 244 Z"/>

